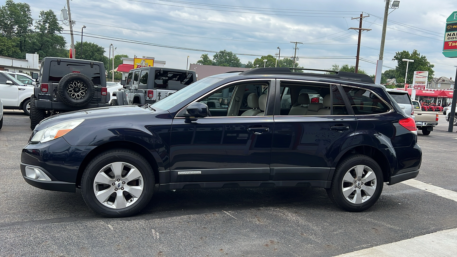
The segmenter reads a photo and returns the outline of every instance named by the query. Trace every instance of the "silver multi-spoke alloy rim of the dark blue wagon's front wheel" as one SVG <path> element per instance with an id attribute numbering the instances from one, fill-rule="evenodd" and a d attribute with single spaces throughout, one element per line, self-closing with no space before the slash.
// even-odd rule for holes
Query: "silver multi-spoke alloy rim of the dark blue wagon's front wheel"
<path id="1" fill-rule="evenodd" d="M 126 162 L 113 162 L 97 172 L 94 179 L 97 200 L 112 209 L 123 209 L 140 198 L 143 193 L 143 176 Z"/>

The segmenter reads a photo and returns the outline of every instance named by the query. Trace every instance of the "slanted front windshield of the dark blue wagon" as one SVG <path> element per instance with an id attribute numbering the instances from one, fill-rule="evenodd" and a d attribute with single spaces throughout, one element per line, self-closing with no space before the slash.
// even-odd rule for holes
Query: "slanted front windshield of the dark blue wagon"
<path id="1" fill-rule="evenodd" d="M 206 88 L 207 86 L 211 86 L 220 80 L 222 80 L 222 79 L 211 78 L 211 77 L 207 77 L 207 78 L 198 80 L 197 82 L 192 83 L 189 86 L 186 86 L 185 88 L 181 89 L 180 91 L 177 91 L 177 92 L 171 94 L 171 96 L 167 96 L 164 99 L 160 100 L 159 102 L 154 103 L 152 106 L 157 107 L 162 110 L 168 110 L 171 107 L 174 107 L 178 103 L 189 98 L 189 96 L 191 96 L 193 93 L 196 93 L 197 91 L 200 91 L 200 90 Z"/>

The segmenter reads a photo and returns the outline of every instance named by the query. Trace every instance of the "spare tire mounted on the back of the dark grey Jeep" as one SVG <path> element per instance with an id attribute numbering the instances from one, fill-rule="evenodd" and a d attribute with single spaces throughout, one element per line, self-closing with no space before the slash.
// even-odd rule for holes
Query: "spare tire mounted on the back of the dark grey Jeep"
<path id="1" fill-rule="evenodd" d="M 94 96 L 95 86 L 88 76 L 81 73 L 70 73 L 58 82 L 57 94 L 66 105 L 83 107 Z"/>

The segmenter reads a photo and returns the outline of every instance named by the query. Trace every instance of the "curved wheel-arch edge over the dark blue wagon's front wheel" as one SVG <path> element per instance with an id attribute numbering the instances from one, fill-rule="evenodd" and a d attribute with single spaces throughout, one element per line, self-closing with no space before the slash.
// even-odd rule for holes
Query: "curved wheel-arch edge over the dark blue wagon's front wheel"
<path id="1" fill-rule="evenodd" d="M 106 151 L 106 150 L 111 150 L 111 149 L 116 149 L 116 148 L 123 148 L 123 149 L 128 149 L 132 150 L 134 152 L 137 152 L 138 154 L 142 155 L 151 165 L 152 170 L 154 171 L 154 177 L 155 177 L 155 182 L 159 183 L 159 166 L 156 158 L 154 155 L 146 149 L 143 145 L 139 145 L 137 143 L 131 142 L 131 141 L 111 141 L 107 142 L 102 145 L 98 145 L 96 148 L 90 150 L 90 152 L 84 157 L 83 161 L 81 162 L 79 168 L 78 168 L 78 174 L 76 175 L 76 186 L 80 187 L 81 186 L 81 178 L 83 176 L 84 170 L 89 164 L 89 162 L 97 155 L 100 153 Z"/>

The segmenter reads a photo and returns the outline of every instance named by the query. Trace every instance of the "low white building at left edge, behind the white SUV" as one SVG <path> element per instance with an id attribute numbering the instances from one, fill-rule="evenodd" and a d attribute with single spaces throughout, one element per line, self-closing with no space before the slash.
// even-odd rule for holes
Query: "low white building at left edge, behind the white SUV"
<path id="1" fill-rule="evenodd" d="M 26 59 L 16 59 L 0 56 L 0 70 L 15 71 L 20 73 L 32 73 L 40 70 L 41 61 L 38 54 L 26 54 Z"/>

